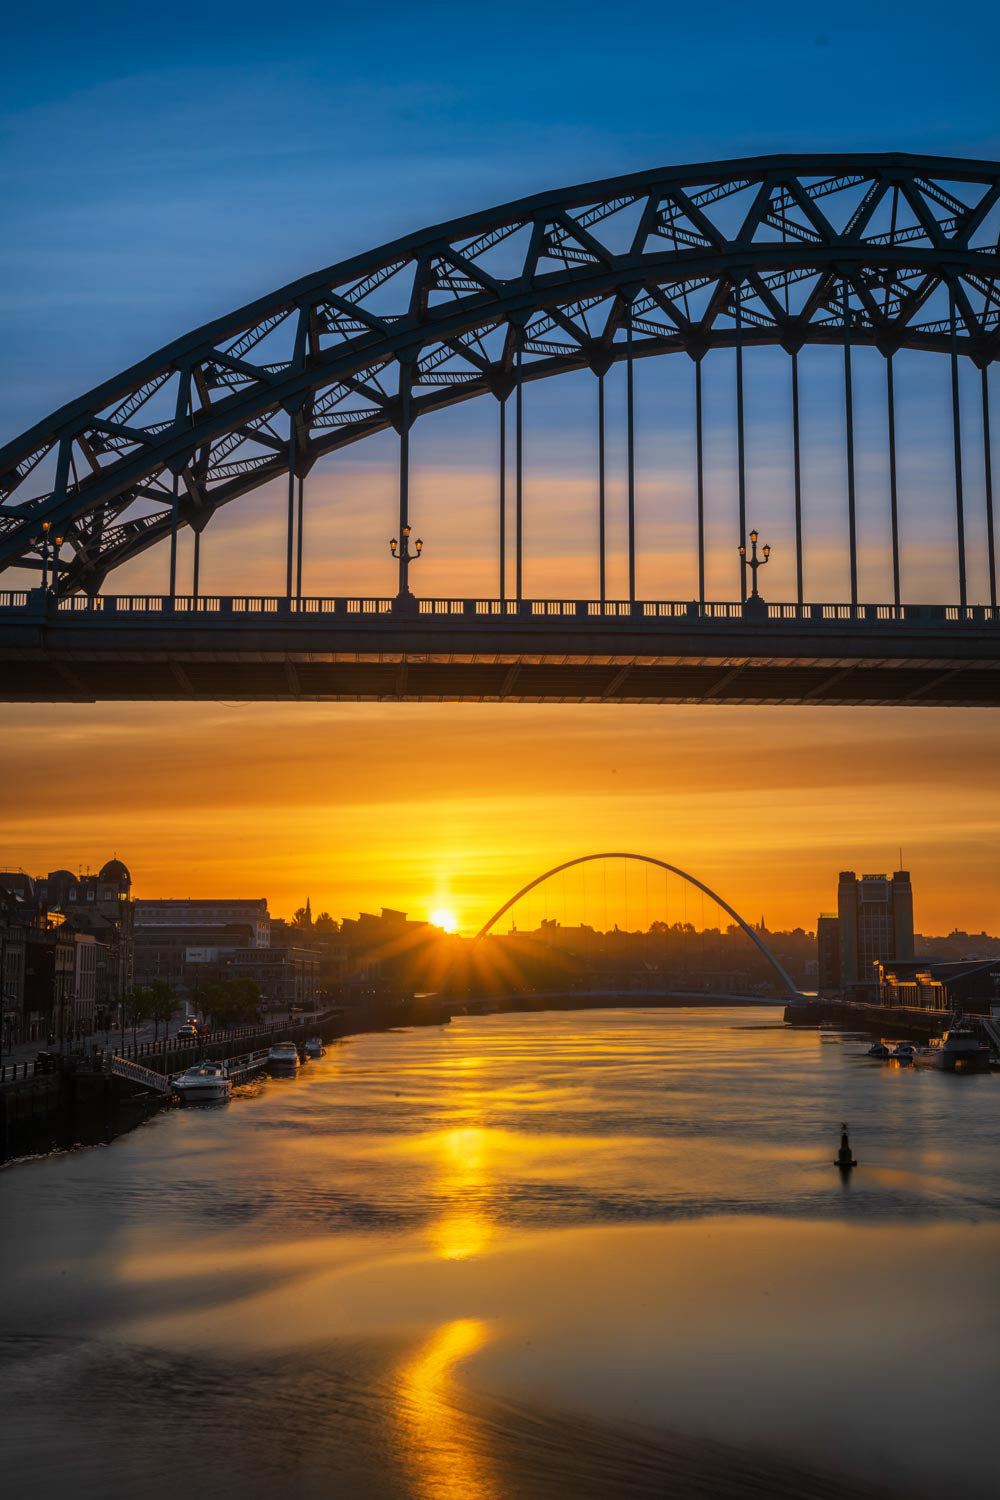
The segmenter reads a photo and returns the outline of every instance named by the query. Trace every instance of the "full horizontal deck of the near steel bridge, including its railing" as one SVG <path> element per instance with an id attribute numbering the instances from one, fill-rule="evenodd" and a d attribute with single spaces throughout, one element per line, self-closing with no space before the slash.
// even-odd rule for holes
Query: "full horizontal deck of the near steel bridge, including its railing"
<path id="1" fill-rule="evenodd" d="M 232 698 L 1000 706 L 1000 612 L 0 597 L 1 700 Z"/>

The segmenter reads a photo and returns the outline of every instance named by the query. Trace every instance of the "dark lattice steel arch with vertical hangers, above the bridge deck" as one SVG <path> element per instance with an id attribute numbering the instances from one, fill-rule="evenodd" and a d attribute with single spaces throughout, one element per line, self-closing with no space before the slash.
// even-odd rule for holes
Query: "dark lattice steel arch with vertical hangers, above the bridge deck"
<path id="1" fill-rule="evenodd" d="M 501 450 L 513 402 L 513 495 L 501 470 L 499 596 L 522 597 L 522 398 L 591 369 L 603 398 L 628 366 L 628 579 L 636 594 L 634 360 L 685 352 L 699 429 L 699 579 L 705 596 L 700 362 L 736 351 L 739 538 L 747 534 L 742 351 L 793 362 L 796 561 L 802 603 L 798 352 L 846 351 L 852 604 L 858 603 L 852 362 L 886 357 L 894 586 L 900 603 L 892 357 L 952 362 L 958 603 L 967 602 L 958 360 L 982 372 L 990 590 L 997 606 L 987 369 L 1000 352 L 1000 165 L 906 154 L 771 156 L 663 168 L 547 192 L 406 236 L 217 318 L 70 402 L 0 448 L 0 570 L 54 568 L 96 592 L 120 564 L 288 477 L 286 591 L 301 597 L 303 484 L 316 460 L 399 435 L 399 525 L 409 524 L 409 430 L 492 394 Z M 603 399 L 598 402 L 603 430 Z M 604 597 L 601 468 L 601 598 Z M 505 528 L 513 532 L 508 579 Z M 54 538 L 61 538 L 54 546 Z M 52 552 L 55 555 L 52 555 Z M 400 592 L 406 584 L 400 562 Z M 195 594 L 198 585 L 195 580 Z M 747 596 L 747 570 L 741 591 Z"/>

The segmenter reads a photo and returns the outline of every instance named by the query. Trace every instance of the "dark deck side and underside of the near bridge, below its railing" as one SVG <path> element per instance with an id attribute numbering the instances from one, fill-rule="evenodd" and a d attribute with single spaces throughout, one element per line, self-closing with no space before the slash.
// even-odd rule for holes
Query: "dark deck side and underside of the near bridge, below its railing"
<path id="1" fill-rule="evenodd" d="M 1000 706 L 1000 638 L 804 622 L 0 624 L 0 700 L 513 700 Z"/>

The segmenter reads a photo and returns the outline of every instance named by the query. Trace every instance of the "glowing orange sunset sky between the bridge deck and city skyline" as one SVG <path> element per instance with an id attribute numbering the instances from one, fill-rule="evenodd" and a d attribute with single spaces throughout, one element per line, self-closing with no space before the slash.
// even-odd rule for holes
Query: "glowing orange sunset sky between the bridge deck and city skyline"
<path id="1" fill-rule="evenodd" d="M 993 711 L 123 704 L 7 706 L 4 724 L 6 868 L 117 852 L 138 896 L 448 909 L 474 932 L 547 867 L 628 849 L 811 928 L 840 868 L 889 870 L 903 848 L 919 930 L 1000 930 Z"/>

